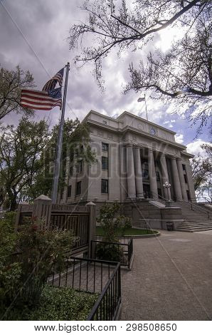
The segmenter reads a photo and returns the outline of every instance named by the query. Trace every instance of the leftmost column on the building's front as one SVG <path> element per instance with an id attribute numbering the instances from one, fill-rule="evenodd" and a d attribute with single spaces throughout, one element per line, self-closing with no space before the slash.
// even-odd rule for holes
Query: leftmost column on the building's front
<path id="1" fill-rule="evenodd" d="M 135 178 L 134 178 L 134 159 L 132 144 L 127 145 L 127 190 L 129 199 L 136 198 Z"/>

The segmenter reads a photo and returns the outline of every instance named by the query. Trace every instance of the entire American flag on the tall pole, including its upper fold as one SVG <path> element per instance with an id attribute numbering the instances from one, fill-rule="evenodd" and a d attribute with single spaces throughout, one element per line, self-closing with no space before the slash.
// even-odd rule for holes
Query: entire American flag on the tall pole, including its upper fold
<path id="1" fill-rule="evenodd" d="M 58 73 L 51 78 L 50 81 L 43 86 L 43 91 L 36 90 L 21 90 L 21 105 L 24 108 L 38 109 L 38 110 L 51 110 L 55 106 L 62 106 L 62 93 L 61 86 L 63 83 L 62 68 Z M 56 84 L 60 88 L 55 88 Z"/>

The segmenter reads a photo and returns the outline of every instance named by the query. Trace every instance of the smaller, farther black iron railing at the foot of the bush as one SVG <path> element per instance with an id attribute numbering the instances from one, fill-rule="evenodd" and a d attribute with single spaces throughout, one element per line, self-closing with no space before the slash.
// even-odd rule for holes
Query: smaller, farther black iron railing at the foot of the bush
<path id="1" fill-rule="evenodd" d="M 126 238 L 127 239 L 127 238 Z M 98 254 L 98 249 L 100 246 L 103 247 L 103 250 L 107 250 L 107 254 L 112 254 L 112 250 L 115 249 L 117 254 L 117 262 L 120 262 L 121 265 L 127 266 L 130 269 L 132 255 L 133 255 L 133 240 L 132 237 L 127 239 L 127 243 L 122 242 L 105 242 L 102 240 L 92 240 L 90 242 L 91 254 L 94 259 L 99 259 L 100 255 Z M 107 260 L 104 257 L 104 254 L 101 255 L 101 259 Z"/>

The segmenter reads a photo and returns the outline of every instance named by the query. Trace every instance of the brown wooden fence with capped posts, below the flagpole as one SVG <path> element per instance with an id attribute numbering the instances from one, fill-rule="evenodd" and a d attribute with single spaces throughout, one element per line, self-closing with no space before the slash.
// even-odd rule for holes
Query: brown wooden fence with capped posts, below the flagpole
<path id="1" fill-rule="evenodd" d="M 96 207 L 92 202 L 85 206 L 54 205 L 52 200 L 41 195 L 34 200 L 33 205 L 18 205 L 16 215 L 16 230 L 26 217 L 41 219 L 41 229 L 73 230 L 79 237 L 72 249 L 72 254 L 88 252 L 91 257 L 91 240 L 95 239 Z"/>

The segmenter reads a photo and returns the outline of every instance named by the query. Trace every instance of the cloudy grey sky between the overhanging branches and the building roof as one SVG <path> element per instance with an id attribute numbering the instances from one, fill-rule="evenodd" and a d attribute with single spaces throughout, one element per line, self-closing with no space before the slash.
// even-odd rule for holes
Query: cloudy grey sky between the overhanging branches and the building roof
<path id="1" fill-rule="evenodd" d="M 73 66 L 73 51 L 69 51 L 70 26 L 83 21 L 85 13 L 80 10 L 81 0 L 0 0 L 0 63 L 14 69 L 20 65 L 33 74 L 38 90 L 43 88 L 65 63 L 70 61 L 67 107 L 65 118 L 82 120 L 93 109 L 105 115 L 115 116 L 127 110 L 145 118 L 144 103 L 137 103 L 139 94 L 123 95 L 123 86 L 129 81 L 127 68 L 132 59 L 142 56 L 124 53 L 117 59 L 115 53 L 103 63 L 105 92 L 102 93 L 92 76 L 92 67 L 77 69 Z M 153 43 L 167 50 L 177 31 L 164 31 L 156 35 Z M 148 48 L 151 48 L 149 46 Z M 142 51 L 142 52 L 145 52 Z M 209 141 L 207 131 L 197 139 L 196 129 L 189 128 L 187 120 L 171 114 L 169 106 L 151 100 L 147 96 L 149 120 L 176 132 L 176 141 L 189 145 L 190 153 L 197 153 L 200 145 Z M 58 121 L 59 110 L 37 111 L 36 118 L 51 116 L 52 124 Z M 4 123 L 17 123 L 18 116 L 11 114 Z"/>

